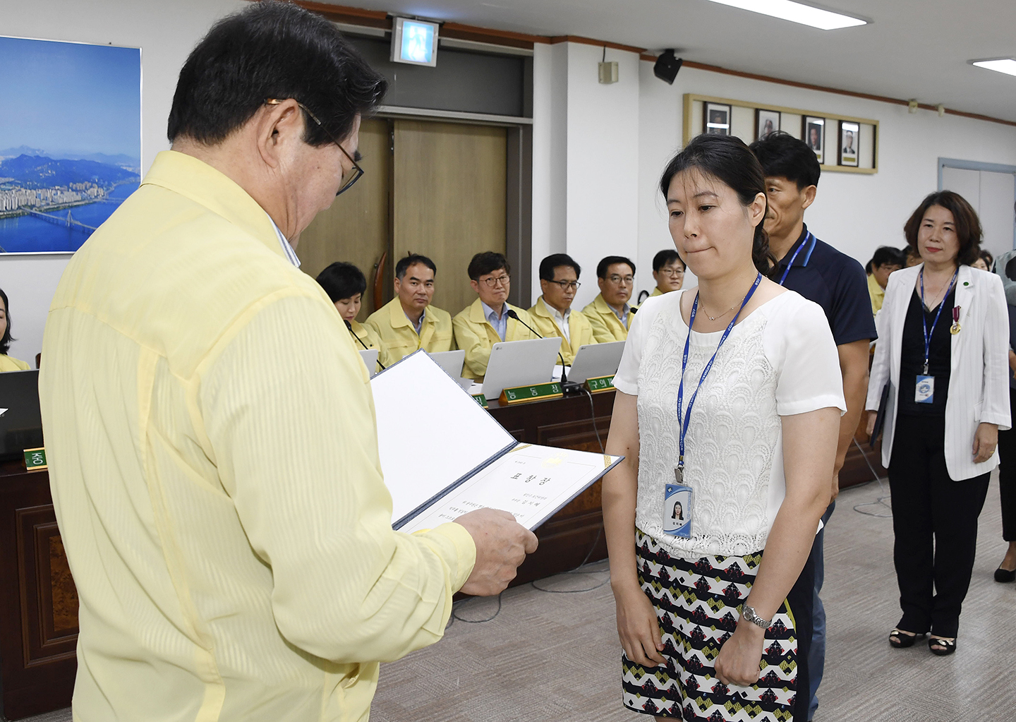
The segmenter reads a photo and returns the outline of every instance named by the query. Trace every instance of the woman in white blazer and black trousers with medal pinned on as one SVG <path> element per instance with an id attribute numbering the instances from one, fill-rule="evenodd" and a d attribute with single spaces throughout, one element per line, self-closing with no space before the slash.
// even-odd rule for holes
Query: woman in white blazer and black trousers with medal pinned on
<path id="1" fill-rule="evenodd" d="M 903 611 L 889 643 L 931 633 L 942 656 L 956 650 L 998 431 L 1011 423 L 1008 315 L 1001 280 L 969 265 L 980 223 L 960 195 L 932 193 L 904 231 L 924 262 L 889 277 L 866 408 L 871 432 L 888 383 L 882 463 Z"/>

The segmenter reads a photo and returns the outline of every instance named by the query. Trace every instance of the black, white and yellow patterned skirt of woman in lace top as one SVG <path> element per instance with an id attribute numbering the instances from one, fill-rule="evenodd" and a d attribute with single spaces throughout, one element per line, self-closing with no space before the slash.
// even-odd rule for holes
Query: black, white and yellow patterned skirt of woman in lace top
<path id="1" fill-rule="evenodd" d="M 766 631 L 759 681 L 727 686 L 716 677 L 713 660 L 734 634 L 762 553 L 692 562 L 671 556 L 638 529 L 635 541 L 639 583 L 659 619 L 666 666 L 646 668 L 622 655 L 625 707 L 686 722 L 807 720 L 810 566 Z"/>

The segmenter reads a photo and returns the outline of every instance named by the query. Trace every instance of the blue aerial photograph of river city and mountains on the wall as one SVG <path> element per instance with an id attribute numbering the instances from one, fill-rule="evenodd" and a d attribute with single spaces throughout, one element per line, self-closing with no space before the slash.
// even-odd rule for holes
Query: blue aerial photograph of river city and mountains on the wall
<path id="1" fill-rule="evenodd" d="M 141 50 L 0 37 L 0 253 L 65 253 L 141 180 Z"/>

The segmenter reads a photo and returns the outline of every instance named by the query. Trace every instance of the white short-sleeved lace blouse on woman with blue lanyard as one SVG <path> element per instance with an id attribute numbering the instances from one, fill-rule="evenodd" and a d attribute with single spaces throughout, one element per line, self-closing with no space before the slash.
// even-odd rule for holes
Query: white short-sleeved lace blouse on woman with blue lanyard
<path id="1" fill-rule="evenodd" d="M 628 333 L 614 385 L 638 397 L 635 524 L 671 554 L 744 556 L 762 550 L 783 501 L 780 416 L 846 410 L 839 359 L 821 307 L 793 291 L 741 319 L 698 393 L 685 438 L 692 536 L 662 532 L 664 485 L 678 463 L 678 385 L 688 325 L 684 291 L 646 300 Z M 701 309 L 700 309 L 701 312 Z M 722 332 L 694 332 L 684 411 Z"/>

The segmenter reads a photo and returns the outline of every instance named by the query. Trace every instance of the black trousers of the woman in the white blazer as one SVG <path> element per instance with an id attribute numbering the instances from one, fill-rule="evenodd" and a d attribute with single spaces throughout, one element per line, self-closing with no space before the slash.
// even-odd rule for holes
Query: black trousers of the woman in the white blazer
<path id="1" fill-rule="evenodd" d="M 889 488 L 899 628 L 956 637 L 990 476 L 949 478 L 944 417 L 897 417 Z"/>

